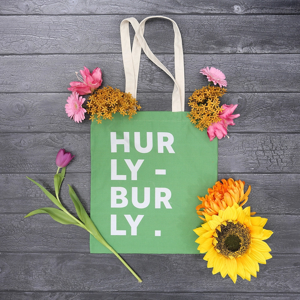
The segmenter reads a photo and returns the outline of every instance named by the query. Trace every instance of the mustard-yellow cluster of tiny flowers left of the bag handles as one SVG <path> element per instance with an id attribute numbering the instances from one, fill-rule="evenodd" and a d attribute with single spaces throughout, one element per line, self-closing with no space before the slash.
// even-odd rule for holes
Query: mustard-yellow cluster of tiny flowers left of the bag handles
<path id="1" fill-rule="evenodd" d="M 95 90 L 88 98 L 87 107 L 87 113 L 91 115 L 89 119 L 97 120 L 98 124 L 102 119 L 113 119 L 113 114 L 118 112 L 123 116 L 128 115 L 128 119 L 131 119 L 141 108 L 130 93 L 124 93 L 111 86 Z"/>

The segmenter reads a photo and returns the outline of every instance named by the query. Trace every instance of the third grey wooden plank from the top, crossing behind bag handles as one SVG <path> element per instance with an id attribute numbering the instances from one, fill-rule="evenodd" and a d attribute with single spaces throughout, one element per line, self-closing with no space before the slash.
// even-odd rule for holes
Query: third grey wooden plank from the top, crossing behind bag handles
<path id="1" fill-rule="evenodd" d="M 171 55 L 157 56 L 173 70 Z M 207 85 L 207 79 L 199 70 L 215 66 L 226 74 L 230 92 L 299 92 L 300 78 L 295 76 L 299 58 L 299 54 L 187 54 L 184 56 L 186 90 L 193 92 Z M 66 92 L 69 82 L 76 80 L 74 72 L 84 65 L 91 70 L 101 67 L 103 86 L 125 89 L 121 54 L 5 55 L 1 58 L 0 72 L 10 76 L 0 79 L 0 92 Z M 171 91 L 171 81 L 142 56 L 138 92 Z"/>

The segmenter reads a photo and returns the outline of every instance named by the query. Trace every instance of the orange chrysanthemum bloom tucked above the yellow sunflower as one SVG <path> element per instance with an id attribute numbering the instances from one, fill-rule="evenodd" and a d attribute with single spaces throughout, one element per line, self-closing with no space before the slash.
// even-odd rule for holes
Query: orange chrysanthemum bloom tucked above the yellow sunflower
<path id="1" fill-rule="evenodd" d="M 224 210 L 226 207 L 232 206 L 233 203 L 237 203 L 240 206 L 244 205 L 251 190 L 249 185 L 246 193 L 244 193 L 244 184 L 244 181 L 234 181 L 232 178 L 228 180 L 222 179 L 221 182 L 217 181 L 212 189 L 209 188 L 207 190 L 208 195 L 205 195 L 205 197 L 198 196 L 198 199 L 202 201 L 196 207 L 199 218 L 205 221 L 205 218 L 201 217 L 202 215 L 208 214 L 212 216 L 218 214 L 220 209 Z M 252 212 L 252 214 L 255 214 L 255 212 Z"/>

